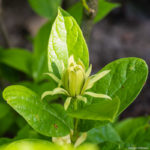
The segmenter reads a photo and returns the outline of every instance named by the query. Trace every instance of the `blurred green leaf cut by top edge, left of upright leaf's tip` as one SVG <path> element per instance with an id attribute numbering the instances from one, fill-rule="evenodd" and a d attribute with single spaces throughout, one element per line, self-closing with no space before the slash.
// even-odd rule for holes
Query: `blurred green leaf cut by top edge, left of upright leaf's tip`
<path id="1" fill-rule="evenodd" d="M 62 0 L 28 0 L 32 9 L 40 16 L 53 19 Z"/>

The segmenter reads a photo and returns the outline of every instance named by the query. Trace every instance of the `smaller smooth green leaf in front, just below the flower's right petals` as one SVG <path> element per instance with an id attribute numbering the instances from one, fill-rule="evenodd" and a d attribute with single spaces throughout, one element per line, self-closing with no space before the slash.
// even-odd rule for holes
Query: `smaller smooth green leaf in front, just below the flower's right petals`
<path id="1" fill-rule="evenodd" d="M 98 102 L 85 105 L 77 111 L 70 111 L 72 117 L 88 120 L 113 121 L 119 109 L 120 101 L 116 97 L 110 100 L 101 99 Z"/>

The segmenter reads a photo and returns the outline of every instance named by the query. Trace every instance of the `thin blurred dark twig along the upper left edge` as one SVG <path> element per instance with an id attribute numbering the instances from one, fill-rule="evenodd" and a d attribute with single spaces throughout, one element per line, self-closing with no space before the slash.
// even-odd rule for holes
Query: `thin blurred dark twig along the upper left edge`
<path id="1" fill-rule="evenodd" d="M 9 36 L 8 36 L 7 30 L 5 28 L 5 24 L 3 22 L 2 0 L 0 0 L 0 30 L 1 30 L 1 33 L 2 33 L 2 35 L 4 37 L 4 40 L 5 40 L 5 47 L 6 48 L 11 47 L 11 44 L 10 44 L 10 41 L 9 41 Z"/>

